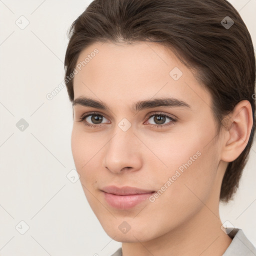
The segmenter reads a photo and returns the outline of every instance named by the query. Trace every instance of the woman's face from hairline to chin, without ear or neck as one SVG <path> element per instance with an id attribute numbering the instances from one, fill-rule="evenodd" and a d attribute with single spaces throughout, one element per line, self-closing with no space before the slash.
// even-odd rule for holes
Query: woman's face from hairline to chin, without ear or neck
<path id="1" fill-rule="evenodd" d="M 192 72 L 149 42 L 94 43 L 77 67 L 72 154 L 107 234 L 146 241 L 213 212 L 223 165 L 211 97 Z"/>

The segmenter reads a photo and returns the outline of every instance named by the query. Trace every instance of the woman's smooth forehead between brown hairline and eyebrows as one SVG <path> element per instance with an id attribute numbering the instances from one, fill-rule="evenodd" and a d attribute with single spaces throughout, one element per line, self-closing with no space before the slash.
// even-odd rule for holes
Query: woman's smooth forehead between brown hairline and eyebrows
<path id="1" fill-rule="evenodd" d="M 76 62 L 74 98 L 89 96 L 109 104 L 170 96 L 190 105 L 210 105 L 210 94 L 175 54 L 154 42 L 96 42 Z M 105 100 L 104 100 L 105 99 Z"/>

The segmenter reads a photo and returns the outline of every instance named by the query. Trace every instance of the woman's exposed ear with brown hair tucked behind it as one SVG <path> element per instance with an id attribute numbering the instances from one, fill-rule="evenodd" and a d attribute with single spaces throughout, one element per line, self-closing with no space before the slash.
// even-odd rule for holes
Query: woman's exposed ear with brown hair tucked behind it
<path id="1" fill-rule="evenodd" d="M 223 131 L 221 160 L 231 162 L 240 155 L 249 140 L 253 124 L 250 102 L 241 100 L 228 117 L 227 129 Z"/>

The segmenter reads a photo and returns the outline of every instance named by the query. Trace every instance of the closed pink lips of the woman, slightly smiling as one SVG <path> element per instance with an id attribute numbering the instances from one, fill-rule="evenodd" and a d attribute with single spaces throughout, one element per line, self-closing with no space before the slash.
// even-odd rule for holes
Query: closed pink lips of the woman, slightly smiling
<path id="1" fill-rule="evenodd" d="M 117 209 L 129 209 L 146 200 L 155 191 L 131 186 L 106 186 L 100 189 L 106 202 Z"/>

